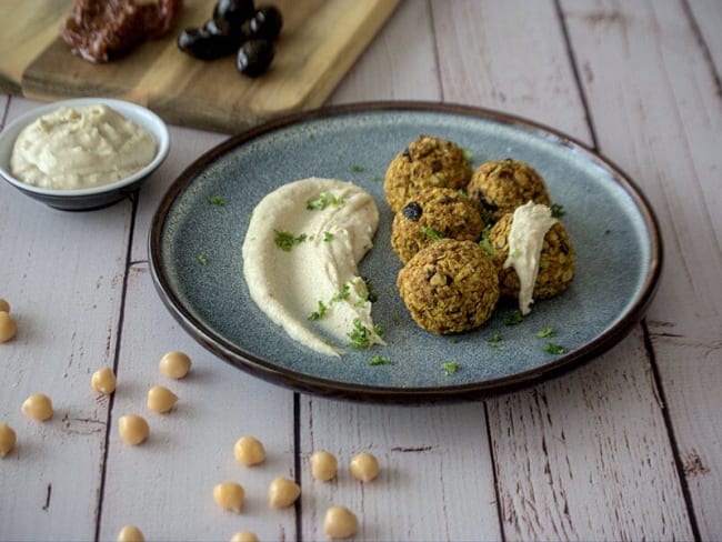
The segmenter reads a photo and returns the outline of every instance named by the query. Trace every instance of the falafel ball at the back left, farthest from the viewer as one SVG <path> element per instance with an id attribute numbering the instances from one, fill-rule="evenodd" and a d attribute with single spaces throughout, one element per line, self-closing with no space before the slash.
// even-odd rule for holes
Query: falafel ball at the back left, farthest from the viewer
<path id="1" fill-rule="evenodd" d="M 463 189 L 471 178 L 471 165 L 458 144 L 441 138 L 421 136 L 389 164 L 383 189 L 393 210 L 401 208 L 423 188 Z"/>

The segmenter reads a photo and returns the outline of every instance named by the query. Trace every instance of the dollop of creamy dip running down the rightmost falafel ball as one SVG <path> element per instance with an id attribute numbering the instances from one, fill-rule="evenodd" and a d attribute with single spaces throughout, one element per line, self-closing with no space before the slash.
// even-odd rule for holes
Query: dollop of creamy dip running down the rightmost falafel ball
<path id="1" fill-rule="evenodd" d="M 519 277 L 519 310 L 522 314 L 531 312 L 544 235 L 554 222 L 556 219 L 552 218 L 551 209 L 533 201 L 514 211 L 507 238 L 509 255 L 504 269 L 514 268 Z"/>

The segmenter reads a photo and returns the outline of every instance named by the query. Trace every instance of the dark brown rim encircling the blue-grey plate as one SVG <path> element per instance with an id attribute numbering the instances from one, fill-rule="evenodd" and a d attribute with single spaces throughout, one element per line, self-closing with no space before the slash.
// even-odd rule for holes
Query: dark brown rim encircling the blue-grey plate
<path id="1" fill-rule="evenodd" d="M 202 322 L 199 322 L 180 302 L 163 270 L 161 239 L 163 237 L 168 214 L 179 194 L 209 163 L 218 160 L 230 150 L 235 149 L 237 147 L 262 134 L 293 124 L 303 123 L 309 120 L 322 120 L 374 111 L 447 113 L 479 118 L 501 124 L 513 126 L 543 139 L 551 138 L 560 145 L 581 152 L 588 160 L 594 162 L 598 167 L 606 171 L 606 173 L 630 195 L 636 205 L 650 237 L 650 265 L 644 284 L 636 295 L 636 299 L 634 299 L 633 303 L 631 303 L 629 309 L 626 309 L 622 314 L 622 318 L 610 329 L 581 348 L 566 352 L 565 354 L 555 358 L 553 361 L 533 370 L 494 380 L 437 388 L 370 387 L 338 382 L 295 372 L 290 369 L 280 368 L 274 363 L 259 358 L 252 352 L 244 351 L 237 344 L 233 344 L 223 337 L 214 333 L 212 330 L 209 330 Z M 483 399 L 485 397 L 525 388 L 543 380 L 561 375 L 571 369 L 580 367 L 582 363 L 601 355 L 618 344 L 632 331 L 634 325 L 640 322 L 656 292 L 663 260 L 662 238 L 660 234 L 659 222 L 648 199 L 641 192 L 639 187 L 620 168 L 614 165 L 606 158 L 584 143 L 534 121 L 483 108 L 425 101 L 358 102 L 324 107 L 278 118 L 243 131 L 237 136 L 230 137 L 228 140 L 202 154 L 171 184 L 161 200 L 151 222 L 148 244 L 152 280 L 163 303 L 176 320 L 194 340 L 223 361 L 265 381 L 281 384 L 297 391 L 335 399 L 390 403 L 424 403 L 449 400 Z"/>

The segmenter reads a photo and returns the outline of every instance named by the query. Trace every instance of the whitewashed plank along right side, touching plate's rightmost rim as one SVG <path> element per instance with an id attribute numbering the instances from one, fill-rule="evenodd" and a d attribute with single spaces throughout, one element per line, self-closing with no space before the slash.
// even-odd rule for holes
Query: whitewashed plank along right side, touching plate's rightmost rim
<path id="1" fill-rule="evenodd" d="M 705 6 L 694 3 L 702 10 L 698 19 L 706 18 L 704 9 L 719 11 L 719 3 Z M 590 104 L 600 111 L 594 116 L 600 144 L 642 184 L 660 218 L 665 271 L 648 322 L 700 534 L 716 540 L 722 536 L 718 74 L 676 2 L 568 2 L 564 10 Z"/>

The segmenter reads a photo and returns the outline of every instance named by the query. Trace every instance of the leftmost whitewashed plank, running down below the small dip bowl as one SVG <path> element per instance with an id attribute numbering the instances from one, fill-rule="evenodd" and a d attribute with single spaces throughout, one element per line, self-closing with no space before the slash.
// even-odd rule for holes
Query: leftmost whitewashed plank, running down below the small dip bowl
<path id="1" fill-rule="evenodd" d="M 8 120 L 29 104 L 13 99 Z M 0 183 L 0 297 L 18 335 L 0 344 L 0 420 L 18 444 L 0 461 L 1 540 L 90 540 L 104 453 L 107 399 L 91 373 L 112 364 L 131 220 L 130 202 L 100 212 L 51 210 Z M 52 420 L 20 412 L 31 393 Z"/>

